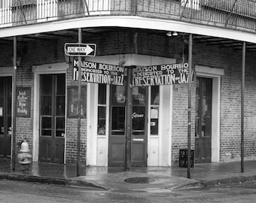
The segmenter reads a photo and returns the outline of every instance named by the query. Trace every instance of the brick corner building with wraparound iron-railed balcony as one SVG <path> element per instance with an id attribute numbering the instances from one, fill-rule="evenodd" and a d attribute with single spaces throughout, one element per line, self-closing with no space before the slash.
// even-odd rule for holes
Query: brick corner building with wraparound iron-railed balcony
<path id="1" fill-rule="evenodd" d="M 196 163 L 240 160 L 242 135 L 254 159 L 255 10 L 249 0 L 3 0 L 0 156 L 26 139 L 35 162 L 75 163 L 79 151 L 85 165 L 177 165 L 191 101 Z M 82 56 L 68 50 L 77 43 Z"/>

